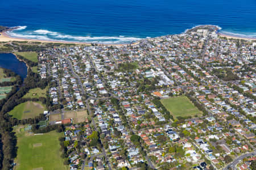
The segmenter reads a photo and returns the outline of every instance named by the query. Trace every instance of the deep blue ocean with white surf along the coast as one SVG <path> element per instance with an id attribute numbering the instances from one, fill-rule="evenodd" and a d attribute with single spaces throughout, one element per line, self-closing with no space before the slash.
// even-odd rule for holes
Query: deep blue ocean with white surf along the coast
<path id="1" fill-rule="evenodd" d="M 29 39 L 127 43 L 203 24 L 256 37 L 256 1 L 0 1 L 0 25 L 23 26 L 9 35 Z"/>

